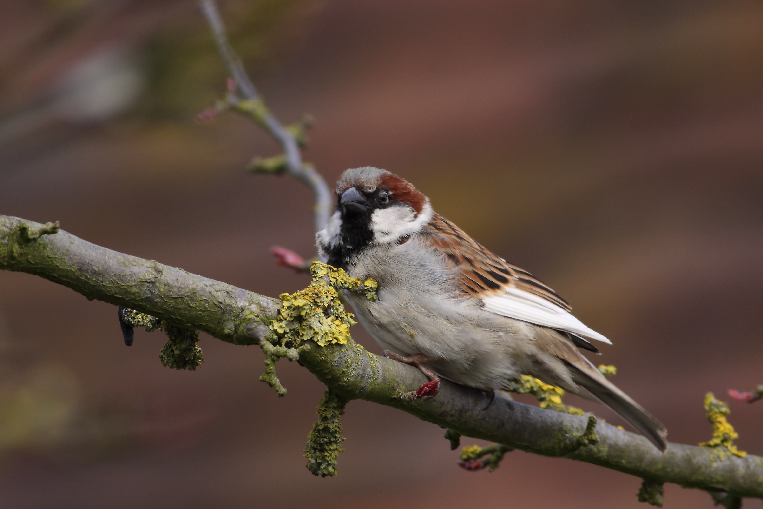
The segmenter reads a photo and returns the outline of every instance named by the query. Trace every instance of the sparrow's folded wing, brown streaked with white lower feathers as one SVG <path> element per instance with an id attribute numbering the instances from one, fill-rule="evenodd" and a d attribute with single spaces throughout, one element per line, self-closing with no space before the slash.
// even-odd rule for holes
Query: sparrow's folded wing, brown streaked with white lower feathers
<path id="1" fill-rule="evenodd" d="M 426 233 L 433 247 L 459 269 L 464 292 L 480 298 L 488 311 L 611 343 L 572 316 L 567 301 L 530 272 L 491 253 L 445 217 L 435 214 Z"/>

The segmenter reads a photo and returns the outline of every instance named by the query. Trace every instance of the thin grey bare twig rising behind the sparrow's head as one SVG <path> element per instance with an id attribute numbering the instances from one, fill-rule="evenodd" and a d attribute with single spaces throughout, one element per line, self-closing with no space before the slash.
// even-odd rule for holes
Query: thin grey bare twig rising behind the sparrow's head
<path id="1" fill-rule="evenodd" d="M 217 3 L 214 0 L 199 0 L 198 5 L 201 8 L 201 12 L 204 13 L 204 18 L 207 18 L 209 27 L 214 35 L 214 41 L 217 43 L 217 50 L 220 51 L 230 76 L 236 82 L 237 89 L 246 99 L 262 101 L 252 80 L 246 74 L 241 59 L 233 51 L 233 47 L 230 46 L 225 24 L 220 16 L 220 11 L 217 9 Z M 314 227 L 315 231 L 323 230 L 333 210 L 333 195 L 329 186 L 313 166 L 302 162 L 302 155 L 297 140 L 275 118 L 274 114 L 266 111 L 262 116 L 262 123 L 264 124 L 263 127 L 282 147 L 286 157 L 286 170 L 289 174 L 295 177 L 295 179 L 304 182 L 304 184 L 313 190 L 315 195 L 313 211 Z"/>

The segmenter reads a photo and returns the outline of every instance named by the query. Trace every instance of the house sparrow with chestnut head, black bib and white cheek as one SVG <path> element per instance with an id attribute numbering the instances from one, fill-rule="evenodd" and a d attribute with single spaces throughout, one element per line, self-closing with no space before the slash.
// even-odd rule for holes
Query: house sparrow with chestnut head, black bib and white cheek
<path id="1" fill-rule="evenodd" d="M 592 395 L 665 451 L 665 427 L 578 350 L 597 353 L 591 340 L 610 340 L 551 288 L 472 240 L 391 172 L 348 169 L 336 195 L 318 249 L 330 265 L 378 282 L 376 301 L 346 298 L 385 355 L 419 367 L 430 388 L 438 375 L 487 392 L 531 375 Z"/>

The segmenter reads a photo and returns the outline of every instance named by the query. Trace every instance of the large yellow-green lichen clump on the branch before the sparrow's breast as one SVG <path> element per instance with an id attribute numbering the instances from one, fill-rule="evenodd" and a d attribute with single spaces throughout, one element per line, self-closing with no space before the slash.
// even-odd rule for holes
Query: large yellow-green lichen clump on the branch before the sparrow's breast
<path id="1" fill-rule="evenodd" d="M 279 396 L 285 395 L 286 389 L 275 375 L 278 359 L 298 359 L 296 349 L 305 341 L 314 341 L 318 346 L 343 345 L 349 341 L 349 327 L 357 322 L 340 301 L 340 290 L 361 292 L 369 301 L 376 300 L 378 284 L 371 278 L 360 282 L 343 269 L 320 262 L 313 262 L 310 272 L 313 281 L 307 288 L 280 295 L 284 305 L 270 324 L 272 334 L 260 343 L 266 356 L 265 373 L 260 380 L 275 388 Z"/>

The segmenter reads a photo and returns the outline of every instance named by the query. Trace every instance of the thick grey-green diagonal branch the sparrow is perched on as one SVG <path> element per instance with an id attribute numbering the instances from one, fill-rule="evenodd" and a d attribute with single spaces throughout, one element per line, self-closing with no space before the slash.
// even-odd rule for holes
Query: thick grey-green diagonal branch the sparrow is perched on
<path id="1" fill-rule="evenodd" d="M 250 345 L 269 334 L 281 301 L 182 269 L 140 259 L 16 217 L 0 216 L 0 269 L 40 275 L 89 299 L 119 304 L 179 327 Z M 31 235 L 30 232 L 39 235 Z M 55 232 L 55 233 L 54 233 Z M 660 453 L 648 440 L 597 422 L 595 440 L 580 440 L 586 416 L 488 398 L 443 380 L 435 398 L 405 401 L 426 379 L 418 369 L 346 345 L 300 346 L 300 362 L 340 398 L 385 404 L 466 437 L 543 456 L 565 457 L 636 475 L 652 483 L 763 498 L 763 459 L 720 449 L 671 443 Z M 717 454 L 716 454 L 717 453 Z"/>

